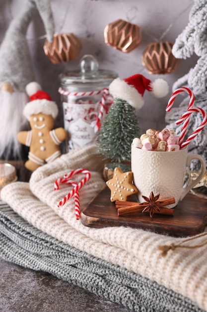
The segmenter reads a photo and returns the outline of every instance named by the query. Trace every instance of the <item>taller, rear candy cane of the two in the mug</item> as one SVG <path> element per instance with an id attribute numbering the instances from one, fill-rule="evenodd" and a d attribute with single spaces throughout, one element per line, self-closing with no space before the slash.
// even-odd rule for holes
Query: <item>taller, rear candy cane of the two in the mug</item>
<path id="1" fill-rule="evenodd" d="M 173 106 L 173 103 L 175 101 L 175 98 L 181 92 L 187 92 L 190 95 L 190 102 L 189 102 L 188 110 L 191 109 L 194 106 L 195 94 L 193 93 L 193 91 L 191 89 L 187 88 L 187 87 L 181 87 L 181 88 L 175 90 L 175 92 L 173 92 L 173 94 L 171 95 L 170 100 L 168 101 L 168 104 L 167 104 L 167 107 L 166 107 L 166 111 L 167 112 L 169 112 L 171 110 L 171 108 Z M 183 121 L 184 121 L 184 124 L 183 124 L 182 130 L 181 130 L 181 134 L 180 134 L 180 137 L 179 137 L 179 141 L 178 141 L 178 144 L 180 145 L 180 147 L 181 147 L 181 145 L 182 145 L 182 143 L 184 141 L 184 138 L 185 138 L 187 126 L 188 126 L 189 121 L 190 121 L 190 115 L 186 116 L 186 118 L 183 119 Z"/>

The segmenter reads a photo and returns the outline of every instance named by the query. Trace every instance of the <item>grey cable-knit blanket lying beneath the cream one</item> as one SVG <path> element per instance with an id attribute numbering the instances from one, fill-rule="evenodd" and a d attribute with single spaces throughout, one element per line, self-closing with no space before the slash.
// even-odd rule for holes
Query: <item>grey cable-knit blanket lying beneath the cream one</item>
<path id="1" fill-rule="evenodd" d="M 41 270 L 132 311 L 202 312 L 190 299 L 82 252 L 30 225 L 0 202 L 0 257 Z"/>

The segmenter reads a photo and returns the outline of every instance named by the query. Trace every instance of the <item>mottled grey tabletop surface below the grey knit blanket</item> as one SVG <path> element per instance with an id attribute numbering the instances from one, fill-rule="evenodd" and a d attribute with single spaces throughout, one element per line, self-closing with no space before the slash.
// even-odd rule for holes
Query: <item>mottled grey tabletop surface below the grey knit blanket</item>
<path id="1" fill-rule="evenodd" d="M 1 312 L 129 312 L 68 282 L 0 258 Z"/>

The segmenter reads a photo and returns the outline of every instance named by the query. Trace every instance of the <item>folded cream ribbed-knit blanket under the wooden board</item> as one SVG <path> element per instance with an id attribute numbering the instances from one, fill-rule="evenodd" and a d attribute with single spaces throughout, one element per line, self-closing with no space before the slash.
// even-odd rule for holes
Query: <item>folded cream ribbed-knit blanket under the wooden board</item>
<path id="1" fill-rule="evenodd" d="M 162 257 L 160 245 L 178 244 L 183 239 L 128 227 L 85 227 L 75 218 L 73 198 L 58 208 L 57 204 L 68 192 L 68 188 L 64 185 L 60 190 L 54 191 L 55 180 L 80 167 L 92 171 L 91 179 L 80 190 L 80 204 L 84 208 L 105 185 L 97 171 L 101 167 L 101 161 L 97 158 L 95 146 L 75 150 L 38 168 L 33 172 L 30 184 L 8 184 L 2 189 L 1 198 L 43 232 L 156 281 L 207 310 L 207 245 L 197 249 L 177 248 Z M 204 242 L 205 236 L 198 236 L 185 245 L 193 246 Z"/>

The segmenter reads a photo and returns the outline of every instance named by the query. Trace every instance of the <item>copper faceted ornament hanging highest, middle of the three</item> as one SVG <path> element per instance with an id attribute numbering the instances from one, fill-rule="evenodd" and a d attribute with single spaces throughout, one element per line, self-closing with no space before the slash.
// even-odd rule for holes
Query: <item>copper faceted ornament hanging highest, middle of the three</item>
<path id="1" fill-rule="evenodd" d="M 129 53 L 141 42 L 141 27 L 123 19 L 117 19 L 106 25 L 104 40 L 114 49 Z"/>

